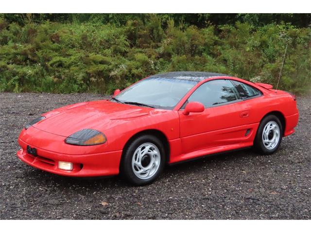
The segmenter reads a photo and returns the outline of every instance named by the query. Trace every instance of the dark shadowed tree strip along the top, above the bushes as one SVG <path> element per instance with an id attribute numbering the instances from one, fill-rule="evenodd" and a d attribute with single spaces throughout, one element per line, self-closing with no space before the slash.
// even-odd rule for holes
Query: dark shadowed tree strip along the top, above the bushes
<path id="1" fill-rule="evenodd" d="M 195 25 L 199 28 L 205 27 L 207 23 L 213 25 L 230 24 L 234 25 L 237 21 L 249 23 L 254 26 L 264 26 L 270 23 L 291 23 L 296 27 L 309 27 L 311 14 L 157 14 L 162 23 L 166 23 L 168 18 L 172 18 L 175 23 L 184 26 Z M 102 24 L 125 25 L 128 20 L 141 20 L 144 23 L 149 20 L 148 14 L 0 14 L 8 23 L 16 22 L 20 25 L 27 23 L 41 23 L 49 20 L 51 22 L 62 23 L 86 23 L 96 22 Z"/>

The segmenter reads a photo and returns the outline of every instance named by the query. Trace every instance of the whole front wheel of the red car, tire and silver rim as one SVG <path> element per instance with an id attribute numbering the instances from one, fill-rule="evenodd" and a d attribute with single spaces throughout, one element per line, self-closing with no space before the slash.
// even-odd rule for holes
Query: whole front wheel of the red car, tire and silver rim
<path id="1" fill-rule="evenodd" d="M 135 185 L 152 183 L 160 175 L 165 164 L 162 142 L 154 135 L 141 135 L 124 151 L 121 172 Z"/>

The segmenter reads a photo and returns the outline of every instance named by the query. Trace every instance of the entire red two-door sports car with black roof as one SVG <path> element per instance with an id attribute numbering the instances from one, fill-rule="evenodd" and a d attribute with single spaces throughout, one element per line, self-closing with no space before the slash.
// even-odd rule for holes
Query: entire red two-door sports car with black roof
<path id="1" fill-rule="evenodd" d="M 122 173 L 153 182 L 165 164 L 254 146 L 275 152 L 298 122 L 295 96 L 224 74 L 170 72 L 109 100 L 43 114 L 21 131 L 18 158 L 75 177 Z"/>

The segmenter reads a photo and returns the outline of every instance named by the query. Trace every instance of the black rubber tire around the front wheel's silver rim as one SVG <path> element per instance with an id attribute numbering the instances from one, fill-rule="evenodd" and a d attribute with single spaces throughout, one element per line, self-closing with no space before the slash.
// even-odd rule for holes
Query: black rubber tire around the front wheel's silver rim
<path id="1" fill-rule="evenodd" d="M 154 170 L 155 173 L 150 178 L 140 179 L 134 173 L 133 169 L 136 169 L 137 167 L 132 166 L 132 159 L 135 156 L 134 153 L 136 152 L 136 150 L 138 150 L 138 148 L 143 148 L 140 146 L 145 145 L 145 144 L 155 145 L 156 149 L 158 149 L 158 151 L 160 152 L 160 156 L 157 157 L 157 158 L 160 158 L 160 162 L 159 162 L 159 165 L 156 166 L 156 167 L 158 167 L 157 170 L 156 171 Z M 155 149 L 155 148 L 153 148 L 153 149 Z M 151 156 L 149 154 L 147 154 L 147 155 Z M 147 160 L 149 158 L 148 156 L 147 156 Z M 149 134 L 140 135 L 136 139 L 134 139 L 123 151 L 123 155 L 122 155 L 122 159 L 121 159 L 121 165 L 120 165 L 121 175 L 123 178 L 125 178 L 127 181 L 129 181 L 130 183 L 132 183 L 134 185 L 146 185 L 146 184 L 152 183 L 162 173 L 163 168 L 165 166 L 165 158 L 166 158 L 166 156 L 165 156 L 164 145 L 161 142 L 161 140 L 159 140 L 154 135 L 149 135 Z M 143 159 L 141 159 L 141 161 L 143 161 Z M 149 161 L 149 162 L 150 162 L 149 165 L 151 165 L 151 161 Z M 141 164 L 142 164 L 142 162 L 141 162 Z M 147 164 L 148 164 L 148 161 L 147 161 Z"/>

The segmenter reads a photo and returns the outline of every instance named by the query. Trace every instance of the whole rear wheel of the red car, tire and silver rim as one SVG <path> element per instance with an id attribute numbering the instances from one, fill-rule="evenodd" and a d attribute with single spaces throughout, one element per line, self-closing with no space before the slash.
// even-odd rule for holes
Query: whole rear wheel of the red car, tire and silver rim
<path id="1" fill-rule="evenodd" d="M 261 154 L 272 154 L 278 149 L 282 134 L 283 128 L 279 118 L 275 115 L 266 116 L 260 122 L 254 146 Z"/>

